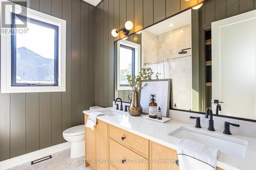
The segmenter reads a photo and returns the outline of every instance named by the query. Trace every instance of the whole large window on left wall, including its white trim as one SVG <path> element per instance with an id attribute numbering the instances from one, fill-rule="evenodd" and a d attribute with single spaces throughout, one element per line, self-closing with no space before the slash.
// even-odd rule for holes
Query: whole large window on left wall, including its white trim
<path id="1" fill-rule="evenodd" d="M 10 28 L 1 24 L 1 93 L 65 91 L 66 21 L 16 6 Z"/>

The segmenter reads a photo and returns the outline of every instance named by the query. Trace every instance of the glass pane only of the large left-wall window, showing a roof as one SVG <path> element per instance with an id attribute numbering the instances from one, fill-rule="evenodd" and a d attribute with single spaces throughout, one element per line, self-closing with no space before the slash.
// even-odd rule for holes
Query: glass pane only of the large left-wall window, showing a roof
<path id="1" fill-rule="evenodd" d="M 16 33 L 16 83 L 55 84 L 55 29 L 35 20 L 27 27 Z"/>

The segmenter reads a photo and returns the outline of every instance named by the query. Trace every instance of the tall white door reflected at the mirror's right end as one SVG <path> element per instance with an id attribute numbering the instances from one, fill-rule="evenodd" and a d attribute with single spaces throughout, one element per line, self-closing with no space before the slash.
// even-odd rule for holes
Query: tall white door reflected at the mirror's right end
<path id="1" fill-rule="evenodd" d="M 211 23 L 211 101 L 214 109 L 214 100 L 223 102 L 222 115 L 256 119 L 255 16 L 254 10 Z"/>

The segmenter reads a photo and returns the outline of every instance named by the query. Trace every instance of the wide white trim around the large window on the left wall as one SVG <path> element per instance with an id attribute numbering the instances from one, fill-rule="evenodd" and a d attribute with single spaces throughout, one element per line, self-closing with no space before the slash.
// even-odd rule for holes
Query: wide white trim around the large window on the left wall
<path id="1" fill-rule="evenodd" d="M 0 0 L 0 9 L 2 9 Z M 18 9 L 15 6 L 15 9 Z M 50 23 L 59 27 L 58 34 L 58 86 L 11 86 L 11 34 L 3 34 L 1 20 L 1 93 L 22 93 L 22 92 L 57 92 L 66 91 L 66 20 L 25 8 L 28 18 Z M 15 10 L 16 11 L 16 10 Z M 17 10 L 18 11 L 18 10 Z M 11 8 L 8 13 L 11 13 Z M 0 14 L 0 17 L 2 13 Z M 25 28 L 26 29 L 26 28 Z"/>

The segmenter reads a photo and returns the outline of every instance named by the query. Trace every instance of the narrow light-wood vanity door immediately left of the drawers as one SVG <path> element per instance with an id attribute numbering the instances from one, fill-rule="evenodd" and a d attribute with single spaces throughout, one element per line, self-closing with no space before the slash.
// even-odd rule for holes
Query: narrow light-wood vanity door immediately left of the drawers
<path id="1" fill-rule="evenodd" d="M 98 120 L 96 127 L 97 170 L 106 170 L 109 167 L 108 124 Z"/>

